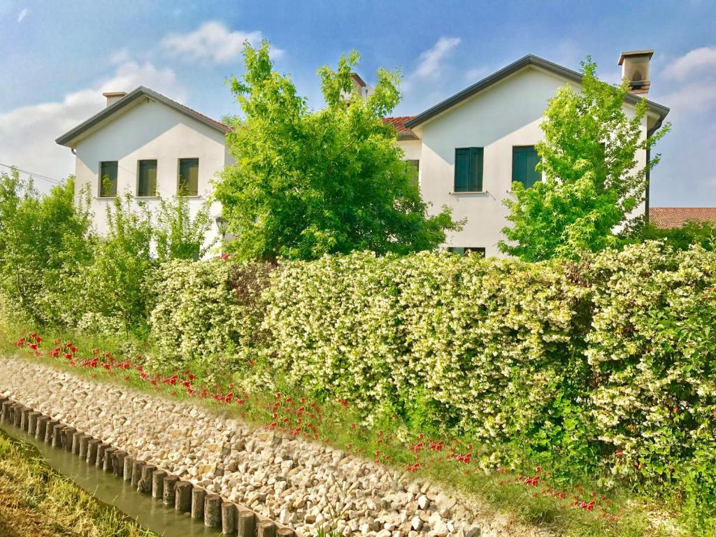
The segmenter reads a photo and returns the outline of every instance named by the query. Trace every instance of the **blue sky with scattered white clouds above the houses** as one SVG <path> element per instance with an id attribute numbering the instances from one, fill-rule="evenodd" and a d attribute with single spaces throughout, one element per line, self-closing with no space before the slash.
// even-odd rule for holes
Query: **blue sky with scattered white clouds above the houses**
<path id="1" fill-rule="evenodd" d="M 713 1 L 41 1 L 0 0 L 0 163 L 62 178 L 54 138 L 100 110 L 102 91 L 143 84 L 220 118 L 241 42 L 269 39 L 276 69 L 321 105 L 316 69 L 362 53 L 367 82 L 400 67 L 395 115 L 425 110 L 532 53 L 617 81 L 621 50 L 653 48 L 655 100 L 672 109 L 652 205 L 716 205 Z M 1 170 L 2 168 L 0 168 Z"/>

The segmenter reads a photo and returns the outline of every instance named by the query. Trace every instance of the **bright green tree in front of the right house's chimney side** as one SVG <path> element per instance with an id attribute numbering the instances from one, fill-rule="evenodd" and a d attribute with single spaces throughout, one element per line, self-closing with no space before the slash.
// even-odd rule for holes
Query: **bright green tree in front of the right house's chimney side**
<path id="1" fill-rule="evenodd" d="M 508 241 L 500 242 L 500 250 L 526 261 L 616 246 L 615 232 L 644 200 L 647 169 L 659 162 L 652 155 L 637 168 L 637 152 L 651 149 L 669 130 L 666 124 L 644 137 L 647 103 L 640 101 L 633 116 L 624 112 L 627 80 L 619 86 L 601 82 L 590 57 L 581 65 L 581 92 L 560 88 L 541 123 L 537 169 L 546 180 L 531 188 L 513 183 L 514 199 L 505 200 L 512 226 L 503 228 Z"/>

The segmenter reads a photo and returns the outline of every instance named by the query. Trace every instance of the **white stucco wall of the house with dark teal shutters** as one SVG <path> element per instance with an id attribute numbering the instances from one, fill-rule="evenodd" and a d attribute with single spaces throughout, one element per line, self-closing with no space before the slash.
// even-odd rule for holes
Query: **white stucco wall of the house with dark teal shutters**
<path id="1" fill-rule="evenodd" d="M 462 231 L 449 233 L 445 246 L 481 247 L 487 256 L 501 255 L 497 245 L 508 223 L 503 200 L 511 195 L 512 148 L 543 138 L 539 125 L 547 102 L 565 83 L 528 67 L 416 127 L 421 140 L 399 142 L 406 158 L 420 158 L 420 191 L 430 210 L 436 213 L 448 205 L 455 220 L 465 219 Z M 625 110 L 633 113 L 630 105 Z M 409 156 L 418 154 L 418 142 L 420 156 Z M 483 192 L 453 193 L 457 147 L 484 147 Z M 640 153 L 643 167 L 646 155 Z"/>

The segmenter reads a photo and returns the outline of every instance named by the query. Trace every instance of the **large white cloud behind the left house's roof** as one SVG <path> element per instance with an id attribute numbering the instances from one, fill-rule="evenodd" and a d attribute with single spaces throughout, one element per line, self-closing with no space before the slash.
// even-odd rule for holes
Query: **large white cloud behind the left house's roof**
<path id="1" fill-rule="evenodd" d="M 176 100 L 185 99 L 171 69 L 153 64 L 125 62 L 112 76 L 64 95 L 59 102 L 43 102 L 0 113 L 0 163 L 48 175 L 74 173 L 74 157 L 54 139 L 91 117 L 105 106 L 102 92 L 131 91 L 145 85 Z M 38 187 L 48 185 L 38 182 Z"/>

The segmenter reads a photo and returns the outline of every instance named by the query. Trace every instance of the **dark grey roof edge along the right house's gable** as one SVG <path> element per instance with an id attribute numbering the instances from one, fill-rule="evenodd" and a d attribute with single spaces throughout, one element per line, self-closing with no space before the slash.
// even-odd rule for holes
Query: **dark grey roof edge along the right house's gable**
<path id="1" fill-rule="evenodd" d="M 562 67 L 561 65 L 550 62 L 541 57 L 534 56 L 533 54 L 528 54 L 527 56 L 518 59 L 516 62 L 509 64 L 507 67 L 503 67 L 499 71 L 490 74 L 490 76 L 483 78 L 482 80 L 480 80 L 480 82 L 476 82 L 475 84 L 463 89 L 463 91 L 456 93 L 452 97 L 448 97 L 448 99 L 439 102 L 433 107 L 428 108 L 427 110 L 425 110 L 425 112 L 416 115 L 412 118 L 412 120 L 405 122 L 405 127 L 407 127 L 408 129 L 413 129 L 421 123 L 424 123 L 427 120 L 431 120 L 433 117 L 440 115 L 442 112 L 445 112 L 445 110 L 448 110 L 455 105 L 460 104 L 460 102 L 463 102 L 469 97 L 472 97 L 473 95 L 481 92 L 483 89 L 486 89 L 493 84 L 496 84 L 501 80 L 509 77 L 511 74 L 514 74 L 521 69 L 525 69 L 529 66 L 545 69 L 546 71 L 556 74 L 558 77 L 562 77 L 567 81 L 576 82 L 577 84 L 581 84 L 582 82 L 582 75 L 580 73 L 573 71 L 572 69 Z M 632 94 L 628 94 L 626 97 L 626 101 L 631 103 L 632 105 L 636 105 L 637 102 L 639 102 L 640 100 L 642 100 L 642 97 L 637 97 L 636 95 Z M 663 105 L 659 105 L 656 102 L 652 102 L 649 100 L 647 100 L 647 107 L 649 107 L 650 111 L 655 112 L 659 115 L 659 121 L 657 122 L 656 127 L 654 127 L 655 130 L 661 126 L 664 117 L 666 117 L 669 113 L 669 109 Z"/>

